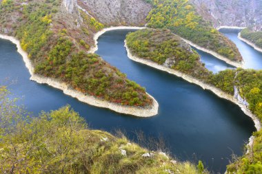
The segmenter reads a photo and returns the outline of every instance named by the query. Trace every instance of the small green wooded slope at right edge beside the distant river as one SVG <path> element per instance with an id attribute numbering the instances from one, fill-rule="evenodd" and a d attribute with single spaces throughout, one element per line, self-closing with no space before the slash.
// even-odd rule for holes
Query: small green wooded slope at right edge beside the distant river
<path id="1" fill-rule="evenodd" d="M 241 37 L 254 43 L 257 47 L 262 48 L 262 32 L 253 32 L 252 30 L 245 28 L 241 31 Z"/>

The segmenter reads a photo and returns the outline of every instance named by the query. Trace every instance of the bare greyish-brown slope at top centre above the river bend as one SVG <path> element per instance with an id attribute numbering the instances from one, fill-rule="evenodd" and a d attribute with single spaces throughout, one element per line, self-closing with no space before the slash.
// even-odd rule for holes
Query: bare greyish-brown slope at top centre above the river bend
<path id="1" fill-rule="evenodd" d="M 144 0 L 78 0 L 78 3 L 105 25 L 145 25 L 152 9 Z"/>

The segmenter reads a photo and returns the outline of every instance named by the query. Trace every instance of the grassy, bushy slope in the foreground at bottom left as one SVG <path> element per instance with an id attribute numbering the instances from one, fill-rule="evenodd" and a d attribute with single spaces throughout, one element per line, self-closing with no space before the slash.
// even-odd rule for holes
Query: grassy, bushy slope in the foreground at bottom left
<path id="1" fill-rule="evenodd" d="M 123 134 L 88 129 L 69 106 L 31 118 L 0 87 L 1 173 L 207 173 Z"/>

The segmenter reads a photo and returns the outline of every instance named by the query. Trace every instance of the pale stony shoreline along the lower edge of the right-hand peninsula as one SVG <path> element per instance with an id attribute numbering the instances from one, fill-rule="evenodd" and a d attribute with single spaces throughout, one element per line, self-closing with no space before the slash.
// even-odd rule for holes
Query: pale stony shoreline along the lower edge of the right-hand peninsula
<path id="1" fill-rule="evenodd" d="M 261 122 L 259 121 L 259 119 L 245 106 L 241 103 L 241 101 L 237 100 L 236 98 L 234 98 L 234 96 L 231 96 L 230 94 L 226 94 L 224 91 L 221 91 L 221 89 L 218 89 L 212 85 L 208 85 L 206 83 L 203 83 L 201 80 L 197 79 L 197 78 L 193 78 L 192 76 L 189 76 L 187 74 L 181 73 L 177 70 L 168 68 L 168 67 L 164 67 L 163 65 L 159 65 L 157 63 L 154 63 L 152 61 L 143 59 L 143 58 L 139 58 L 137 56 L 134 56 L 130 50 L 128 49 L 128 45 L 125 41 L 125 48 L 128 52 L 128 57 L 132 60 L 132 61 L 136 61 L 138 63 L 143 63 L 145 65 L 148 65 L 150 67 L 154 67 L 156 69 L 159 69 L 161 71 L 164 72 L 168 72 L 170 74 L 174 74 L 175 76 L 181 77 L 184 80 L 188 81 L 189 83 L 194 83 L 196 85 L 199 85 L 200 87 L 202 87 L 203 89 L 208 89 L 210 91 L 212 91 L 214 94 L 216 94 L 216 96 L 219 96 L 220 98 L 224 98 L 226 100 L 230 100 L 231 102 L 234 102 L 234 104 L 238 105 L 241 110 L 250 118 L 252 118 L 252 120 L 254 121 L 254 125 L 256 127 L 256 129 L 259 131 L 261 129 Z"/>

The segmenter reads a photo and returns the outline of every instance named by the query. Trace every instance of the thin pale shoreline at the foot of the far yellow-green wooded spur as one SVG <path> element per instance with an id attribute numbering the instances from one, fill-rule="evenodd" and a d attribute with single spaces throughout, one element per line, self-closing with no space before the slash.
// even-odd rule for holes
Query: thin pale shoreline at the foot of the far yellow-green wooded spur
<path id="1" fill-rule="evenodd" d="M 176 34 L 174 34 L 174 35 L 176 35 Z M 212 50 L 208 50 L 208 49 L 206 49 L 204 47 L 200 47 L 199 45 L 196 45 L 196 44 L 192 43 L 191 41 L 188 41 L 187 39 L 183 39 L 183 38 L 181 38 L 181 39 L 183 41 L 185 41 L 185 43 L 188 43 L 189 45 L 191 45 L 192 47 L 195 47 L 196 49 L 201 50 L 203 52 L 206 52 L 208 54 L 211 54 L 212 56 L 215 56 L 216 58 L 219 58 L 221 61 L 224 61 L 225 63 L 228 63 L 229 65 L 232 65 L 234 67 L 242 67 L 243 68 L 243 61 L 241 63 L 230 61 L 228 58 L 225 58 L 224 56 L 221 56 L 220 54 L 218 54 L 216 52 L 213 52 Z"/>

